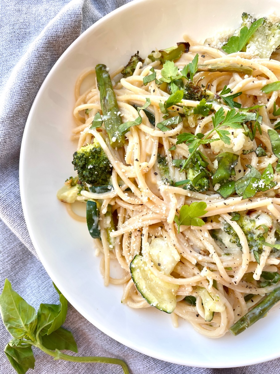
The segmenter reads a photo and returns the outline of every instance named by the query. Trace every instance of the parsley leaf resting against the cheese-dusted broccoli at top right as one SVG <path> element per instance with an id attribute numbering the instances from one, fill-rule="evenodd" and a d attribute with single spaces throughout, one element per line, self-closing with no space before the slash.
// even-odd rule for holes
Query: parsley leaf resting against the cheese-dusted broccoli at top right
<path id="1" fill-rule="evenodd" d="M 230 39 L 228 39 L 227 44 L 224 45 L 222 49 L 227 53 L 235 53 L 243 50 L 253 33 L 255 33 L 263 21 L 264 18 L 260 18 L 253 22 L 249 30 L 247 26 L 242 27 L 239 36 L 231 36 Z"/>

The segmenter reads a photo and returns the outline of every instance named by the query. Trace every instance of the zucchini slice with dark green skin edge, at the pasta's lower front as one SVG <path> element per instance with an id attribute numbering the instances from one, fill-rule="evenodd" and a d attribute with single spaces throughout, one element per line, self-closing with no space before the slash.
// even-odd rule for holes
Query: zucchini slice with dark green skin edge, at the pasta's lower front
<path id="1" fill-rule="evenodd" d="M 138 291 L 150 305 L 166 313 L 174 311 L 178 285 L 157 278 L 141 255 L 131 261 L 130 272 Z"/>

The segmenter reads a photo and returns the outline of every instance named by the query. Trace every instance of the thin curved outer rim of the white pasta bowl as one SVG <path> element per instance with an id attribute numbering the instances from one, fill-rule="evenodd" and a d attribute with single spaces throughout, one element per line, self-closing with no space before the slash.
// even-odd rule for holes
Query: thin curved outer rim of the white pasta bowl
<path id="1" fill-rule="evenodd" d="M 43 266 L 44 266 L 46 272 L 48 273 L 48 275 L 50 276 L 50 278 L 54 281 L 54 283 L 58 284 L 60 291 L 63 293 L 63 295 L 65 295 L 65 297 L 69 301 L 69 303 L 71 303 L 72 306 L 74 306 L 74 308 L 84 318 L 86 318 L 91 324 L 96 326 L 100 331 L 104 332 L 109 337 L 115 339 L 119 343 L 124 344 L 125 346 L 127 346 L 131 349 L 134 349 L 137 352 L 140 352 L 144 355 L 147 355 L 147 356 L 150 356 L 152 358 L 156 358 L 156 359 L 159 359 L 159 360 L 162 360 L 162 361 L 165 361 L 165 362 L 170 362 L 172 364 L 184 365 L 184 366 L 190 366 L 190 367 L 206 368 L 205 364 L 204 365 L 200 364 L 199 362 L 194 361 L 190 357 L 188 358 L 189 362 L 186 363 L 186 361 L 181 361 L 179 359 L 177 359 L 175 361 L 175 360 L 172 360 L 171 358 L 168 358 L 168 357 L 164 356 L 163 354 L 162 355 L 161 354 L 156 354 L 155 352 L 152 352 L 152 355 L 151 355 L 145 349 L 145 347 L 139 347 L 133 341 L 128 340 L 127 338 L 122 337 L 120 334 L 117 334 L 116 332 L 111 331 L 110 328 L 108 328 L 106 325 L 104 325 L 104 324 L 102 324 L 98 321 L 95 321 L 94 318 L 92 316 L 90 316 L 87 313 L 86 310 L 84 310 L 84 309 L 81 310 L 80 306 L 75 301 L 75 298 L 72 298 L 71 293 L 69 293 L 64 288 L 63 285 L 60 286 L 59 281 L 56 282 L 56 280 L 57 280 L 56 273 L 53 272 L 51 266 L 49 266 L 47 261 L 44 260 L 44 255 L 41 253 L 41 250 L 40 250 L 40 244 L 37 242 L 37 240 L 35 239 L 35 236 L 33 234 L 32 224 L 31 224 L 31 221 L 29 220 L 29 211 L 28 211 L 28 207 L 27 207 L 27 202 L 25 200 L 26 186 L 24 184 L 24 167 L 25 167 L 25 154 L 27 152 L 26 143 L 27 143 L 27 140 L 28 140 L 29 129 L 31 128 L 32 117 L 33 117 L 35 108 L 37 107 L 37 103 L 40 101 L 41 95 L 44 92 L 46 86 L 48 85 L 49 80 L 51 79 L 53 72 L 56 70 L 57 66 L 60 65 L 60 63 L 67 58 L 67 56 L 71 53 L 72 49 L 74 49 L 75 46 L 78 43 L 81 42 L 82 39 L 84 39 L 88 34 L 90 34 L 92 32 L 92 30 L 97 28 L 100 24 L 102 24 L 103 22 L 106 22 L 109 19 L 113 18 L 116 14 L 121 13 L 124 9 L 134 7 L 138 3 L 149 3 L 149 1 L 151 1 L 151 0 L 132 0 L 129 3 L 124 4 L 124 5 L 118 7 L 115 10 L 112 10 L 112 12 L 110 12 L 110 13 L 106 14 L 105 16 L 101 17 L 98 21 L 96 21 L 94 24 L 92 24 L 90 27 L 88 27 L 83 33 L 81 33 L 77 37 L 77 39 L 75 39 L 74 42 L 72 42 L 66 48 L 66 50 L 62 53 L 62 55 L 57 59 L 57 61 L 53 65 L 53 67 L 50 69 L 49 73 L 47 74 L 46 78 L 44 79 L 44 81 L 43 81 L 41 87 L 39 88 L 39 90 L 37 92 L 37 95 L 35 96 L 35 99 L 32 103 L 32 106 L 31 106 L 31 109 L 29 111 L 28 118 L 27 118 L 27 121 L 26 121 L 26 124 L 25 124 L 24 133 L 23 133 L 23 136 L 22 136 L 21 151 L 20 151 L 20 158 L 19 158 L 19 187 L 20 187 L 21 203 L 22 203 L 22 209 L 23 209 L 23 212 L 24 212 L 24 218 L 25 218 L 25 222 L 26 222 L 26 225 L 27 225 L 28 233 L 31 237 L 31 241 L 32 241 L 32 244 L 34 245 L 34 248 L 35 248 L 35 251 L 36 251 L 36 254 L 37 254 L 38 258 L 40 259 L 41 263 L 43 264 Z M 231 362 L 230 364 L 225 364 L 225 363 L 220 364 L 219 362 L 217 362 L 216 365 L 209 365 L 208 364 L 207 368 L 231 368 L 231 367 L 248 366 L 248 365 L 254 365 L 254 364 L 259 364 L 259 363 L 262 363 L 262 362 L 270 361 L 270 360 L 279 358 L 279 356 L 280 356 L 280 353 L 279 354 L 274 354 L 274 355 L 271 354 L 271 355 L 266 355 L 265 357 L 262 357 L 262 358 L 260 357 L 258 360 L 250 359 L 250 357 L 248 357 L 246 359 L 246 361 L 244 359 L 242 359 L 241 363 L 240 362 L 236 362 L 236 363 Z"/>

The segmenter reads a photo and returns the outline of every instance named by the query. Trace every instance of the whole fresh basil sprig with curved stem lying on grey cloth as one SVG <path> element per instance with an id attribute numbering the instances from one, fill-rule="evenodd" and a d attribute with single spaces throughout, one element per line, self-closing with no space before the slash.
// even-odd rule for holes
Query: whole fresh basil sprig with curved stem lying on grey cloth
<path id="1" fill-rule="evenodd" d="M 78 349 L 72 333 L 61 327 L 67 313 L 67 300 L 57 288 L 56 290 L 60 304 L 40 304 L 36 314 L 35 309 L 12 289 L 8 279 L 5 281 L 0 295 L 0 311 L 4 325 L 13 338 L 4 352 L 16 372 L 25 374 L 29 368 L 34 369 L 34 346 L 56 360 L 116 364 L 121 365 L 124 374 L 129 374 L 127 365 L 119 359 L 71 356 L 61 352 L 66 349 L 77 353 Z"/>

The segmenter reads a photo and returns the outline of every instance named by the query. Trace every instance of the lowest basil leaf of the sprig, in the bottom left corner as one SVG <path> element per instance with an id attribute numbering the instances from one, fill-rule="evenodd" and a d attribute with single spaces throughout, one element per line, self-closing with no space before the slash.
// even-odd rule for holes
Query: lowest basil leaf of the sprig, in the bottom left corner
<path id="1" fill-rule="evenodd" d="M 10 344 L 7 344 L 4 352 L 18 374 L 25 374 L 28 369 L 34 369 L 35 358 L 29 344 L 18 347 L 11 347 Z"/>

